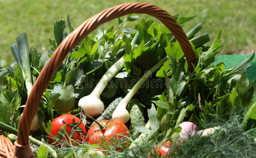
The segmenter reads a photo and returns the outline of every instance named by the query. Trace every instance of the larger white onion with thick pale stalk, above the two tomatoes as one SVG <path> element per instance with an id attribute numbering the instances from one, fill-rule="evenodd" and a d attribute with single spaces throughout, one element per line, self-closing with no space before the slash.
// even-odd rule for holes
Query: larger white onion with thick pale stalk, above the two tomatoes
<path id="1" fill-rule="evenodd" d="M 131 45 L 132 50 L 135 47 L 135 43 L 139 38 L 139 33 L 137 32 L 132 39 Z M 101 77 L 100 81 L 97 83 L 96 87 L 92 93 L 88 96 L 82 97 L 78 106 L 91 117 L 100 115 L 104 111 L 104 104 L 100 100 L 100 94 L 107 86 L 108 82 L 124 67 L 124 56 L 122 56 L 114 65 L 112 65 L 108 71 Z"/>

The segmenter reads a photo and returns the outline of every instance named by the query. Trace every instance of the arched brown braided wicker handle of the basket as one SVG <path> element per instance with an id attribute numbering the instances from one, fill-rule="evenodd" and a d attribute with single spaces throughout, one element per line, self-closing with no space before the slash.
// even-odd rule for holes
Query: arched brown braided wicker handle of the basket
<path id="1" fill-rule="evenodd" d="M 147 3 L 126 3 L 109 8 L 87 19 L 82 25 L 76 28 L 76 30 L 71 32 L 68 37 L 65 38 L 60 43 L 59 47 L 54 51 L 51 59 L 47 62 L 47 64 L 42 69 L 40 75 L 36 79 L 36 82 L 34 83 L 31 93 L 26 102 L 26 106 L 23 111 L 24 114 L 20 119 L 17 139 L 18 144 L 28 144 L 29 129 L 32 119 L 34 118 L 37 108 L 41 102 L 42 95 L 47 88 L 53 73 L 59 68 L 60 64 L 66 58 L 67 54 L 99 25 L 114 18 L 118 18 L 130 13 L 148 14 L 159 19 L 178 40 L 186 56 L 189 71 L 193 70 L 191 63 L 196 63 L 196 56 L 193 48 L 191 47 L 188 38 L 181 26 L 166 11 L 158 8 L 155 5 Z M 28 147 L 28 150 L 31 150 L 30 147 Z M 16 156 L 19 157 L 19 155 Z"/>

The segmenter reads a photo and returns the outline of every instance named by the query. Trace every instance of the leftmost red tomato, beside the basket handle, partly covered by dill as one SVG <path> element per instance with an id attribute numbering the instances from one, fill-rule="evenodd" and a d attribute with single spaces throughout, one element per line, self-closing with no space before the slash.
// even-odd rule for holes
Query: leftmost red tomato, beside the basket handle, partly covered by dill
<path id="1" fill-rule="evenodd" d="M 53 140 L 57 136 L 58 131 L 60 130 L 60 127 L 65 125 L 65 123 L 67 123 L 67 124 L 73 123 L 73 117 L 74 117 L 74 115 L 64 114 L 64 115 L 57 117 L 56 119 L 54 119 L 52 121 L 52 130 L 51 130 L 52 135 L 48 134 L 48 138 L 51 143 L 54 142 Z M 74 117 L 74 120 L 75 120 L 75 123 L 78 123 L 80 121 L 80 119 L 77 117 Z M 85 129 L 85 126 L 83 123 L 81 123 L 78 127 L 80 127 L 84 133 L 86 133 L 86 129 Z M 72 131 L 72 127 L 67 125 L 66 132 L 68 133 L 69 136 L 70 136 L 71 131 Z M 68 136 L 67 135 L 65 135 L 65 136 L 66 136 L 66 138 L 63 138 L 63 139 L 68 140 Z M 79 141 L 83 141 L 86 138 L 86 136 L 83 133 L 76 131 L 73 133 L 73 135 L 70 138 L 79 142 Z M 77 145 L 77 143 L 73 141 L 72 145 Z M 59 147 L 60 147 L 60 145 L 59 145 Z"/>

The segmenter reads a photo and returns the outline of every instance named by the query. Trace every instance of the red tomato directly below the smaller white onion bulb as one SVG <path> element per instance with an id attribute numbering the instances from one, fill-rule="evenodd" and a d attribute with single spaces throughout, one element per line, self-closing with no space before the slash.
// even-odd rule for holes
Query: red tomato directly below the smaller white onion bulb
<path id="1" fill-rule="evenodd" d="M 116 143 L 119 143 L 120 139 L 124 139 L 122 146 L 127 145 L 127 139 L 124 136 L 129 136 L 129 130 L 124 125 L 124 123 L 120 121 L 112 120 L 106 124 L 108 120 L 101 120 L 99 121 L 100 124 L 105 126 L 105 129 L 101 130 L 97 123 L 95 123 L 89 130 L 88 130 L 88 137 L 86 141 L 90 144 L 100 144 L 101 142 L 104 147 L 108 147 L 109 145 L 115 146 Z M 118 142 L 115 142 L 114 138 L 118 138 Z M 121 148 L 116 148 L 116 150 L 120 150 Z"/>

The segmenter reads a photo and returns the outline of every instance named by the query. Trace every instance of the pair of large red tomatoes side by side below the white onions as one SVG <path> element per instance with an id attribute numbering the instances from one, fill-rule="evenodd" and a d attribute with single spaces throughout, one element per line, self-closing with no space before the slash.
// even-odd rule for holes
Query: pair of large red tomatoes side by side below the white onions
<path id="1" fill-rule="evenodd" d="M 57 134 L 60 128 L 65 124 L 67 124 L 65 128 L 65 131 L 66 131 L 65 137 L 62 137 L 60 140 L 56 141 L 56 144 L 59 147 L 61 147 L 60 141 L 63 141 L 63 140 L 68 141 L 69 139 L 68 137 L 71 138 L 72 145 L 77 145 L 77 142 L 80 143 L 83 140 L 86 140 L 88 144 L 100 144 L 100 146 L 104 148 L 108 147 L 109 145 L 115 147 L 116 143 L 120 143 L 123 147 L 128 144 L 127 143 L 128 140 L 125 141 L 125 137 L 129 137 L 129 130 L 122 122 L 115 121 L 115 120 L 110 120 L 110 121 L 101 120 L 99 121 L 101 126 L 95 123 L 88 130 L 88 132 L 86 132 L 86 129 L 83 123 L 81 123 L 78 126 L 81 129 L 80 131 L 74 129 L 75 125 L 73 124 L 74 123 L 76 124 L 79 121 L 80 121 L 79 118 L 71 114 L 64 114 L 62 116 L 57 117 L 52 121 L 51 134 L 48 134 L 49 141 L 53 143 L 55 139 L 58 139 Z M 120 149 L 121 148 L 116 148 L 116 150 L 120 150 Z"/>

